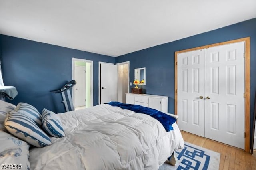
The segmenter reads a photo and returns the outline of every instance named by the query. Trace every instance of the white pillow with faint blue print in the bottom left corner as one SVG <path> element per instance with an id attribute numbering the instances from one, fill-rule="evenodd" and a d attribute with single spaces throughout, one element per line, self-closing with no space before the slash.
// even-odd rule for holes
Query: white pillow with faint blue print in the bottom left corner
<path id="1" fill-rule="evenodd" d="M 30 168 L 29 144 L 2 130 L 0 130 L 0 144 L 0 165 L 3 166 L 1 168 L 21 170 Z"/>

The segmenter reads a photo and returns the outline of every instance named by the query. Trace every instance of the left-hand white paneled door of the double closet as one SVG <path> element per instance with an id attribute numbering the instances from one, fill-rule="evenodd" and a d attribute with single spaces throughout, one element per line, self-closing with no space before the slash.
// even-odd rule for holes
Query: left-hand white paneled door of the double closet
<path id="1" fill-rule="evenodd" d="M 178 126 L 204 136 L 204 49 L 178 54 Z"/>

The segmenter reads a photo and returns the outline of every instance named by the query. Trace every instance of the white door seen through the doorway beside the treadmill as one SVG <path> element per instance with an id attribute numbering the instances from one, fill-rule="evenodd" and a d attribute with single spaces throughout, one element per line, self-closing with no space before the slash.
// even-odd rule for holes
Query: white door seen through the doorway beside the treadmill
<path id="1" fill-rule="evenodd" d="M 86 67 L 75 66 L 75 107 L 86 104 Z"/>

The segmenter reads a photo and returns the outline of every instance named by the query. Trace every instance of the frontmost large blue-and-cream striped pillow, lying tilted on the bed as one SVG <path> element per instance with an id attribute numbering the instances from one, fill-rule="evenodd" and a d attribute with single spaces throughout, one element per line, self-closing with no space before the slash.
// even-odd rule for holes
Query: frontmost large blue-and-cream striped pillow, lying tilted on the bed
<path id="1" fill-rule="evenodd" d="M 6 115 L 4 126 L 14 136 L 38 148 L 51 145 L 51 139 L 30 117 L 10 111 Z"/>

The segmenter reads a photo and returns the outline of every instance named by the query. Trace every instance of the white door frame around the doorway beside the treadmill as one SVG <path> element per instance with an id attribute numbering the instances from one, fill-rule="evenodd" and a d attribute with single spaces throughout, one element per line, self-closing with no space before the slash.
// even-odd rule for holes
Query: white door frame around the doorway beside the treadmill
<path id="1" fill-rule="evenodd" d="M 91 91 L 91 105 L 90 107 L 93 106 L 93 61 L 92 60 L 87 60 L 87 59 L 79 59 L 79 58 L 72 58 L 72 80 L 75 78 L 75 61 L 84 61 L 86 63 L 91 63 L 91 83 L 90 83 L 90 91 Z M 72 88 L 72 102 L 73 105 L 75 105 L 75 89 Z"/>

